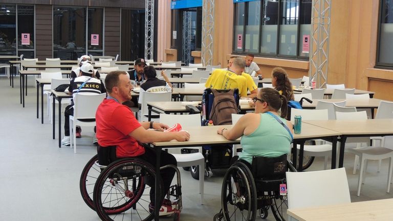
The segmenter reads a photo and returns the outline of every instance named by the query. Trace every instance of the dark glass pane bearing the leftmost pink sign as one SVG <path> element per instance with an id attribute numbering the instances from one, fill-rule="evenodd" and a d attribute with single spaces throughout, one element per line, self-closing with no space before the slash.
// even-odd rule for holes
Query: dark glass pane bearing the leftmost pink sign
<path id="1" fill-rule="evenodd" d="M 34 6 L 18 5 L 18 56 L 34 58 Z"/>

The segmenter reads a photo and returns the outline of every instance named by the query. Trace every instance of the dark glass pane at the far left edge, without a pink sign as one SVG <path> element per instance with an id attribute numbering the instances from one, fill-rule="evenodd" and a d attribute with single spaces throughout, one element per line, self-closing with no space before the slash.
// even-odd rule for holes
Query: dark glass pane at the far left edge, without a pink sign
<path id="1" fill-rule="evenodd" d="M 0 8 L 0 55 L 16 55 L 16 7 Z"/>

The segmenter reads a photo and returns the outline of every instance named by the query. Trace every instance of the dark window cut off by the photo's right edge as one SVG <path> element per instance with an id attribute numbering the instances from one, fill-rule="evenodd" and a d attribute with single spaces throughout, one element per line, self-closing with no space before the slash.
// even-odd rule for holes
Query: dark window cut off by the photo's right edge
<path id="1" fill-rule="evenodd" d="M 381 0 L 380 6 L 377 66 L 393 67 L 393 0 Z"/>

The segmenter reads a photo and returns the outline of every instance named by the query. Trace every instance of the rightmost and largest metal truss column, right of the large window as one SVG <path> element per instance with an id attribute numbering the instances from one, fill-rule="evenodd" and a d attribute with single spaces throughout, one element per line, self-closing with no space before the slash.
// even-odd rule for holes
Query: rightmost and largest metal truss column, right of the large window
<path id="1" fill-rule="evenodd" d="M 328 80 L 331 6 L 332 0 L 313 0 L 309 76 L 316 88 L 325 88 Z"/>

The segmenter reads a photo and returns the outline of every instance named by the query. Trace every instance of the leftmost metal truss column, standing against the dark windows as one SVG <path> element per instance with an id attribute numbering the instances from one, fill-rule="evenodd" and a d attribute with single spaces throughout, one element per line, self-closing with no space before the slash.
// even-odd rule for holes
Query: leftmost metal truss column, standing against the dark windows
<path id="1" fill-rule="evenodd" d="M 145 2 L 145 59 L 153 59 L 154 53 L 154 0 Z"/>

